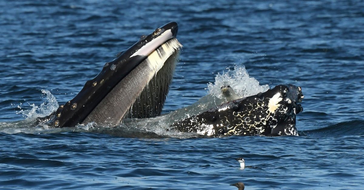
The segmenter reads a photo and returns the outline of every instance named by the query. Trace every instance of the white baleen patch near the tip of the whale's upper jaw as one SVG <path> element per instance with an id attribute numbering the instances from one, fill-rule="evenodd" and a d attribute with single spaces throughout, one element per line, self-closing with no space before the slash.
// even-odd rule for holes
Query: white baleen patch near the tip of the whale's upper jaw
<path id="1" fill-rule="evenodd" d="M 175 38 L 165 42 L 161 48 L 152 51 L 146 58 L 146 62 L 150 69 L 154 70 L 155 74 L 163 67 L 163 64 L 171 56 L 175 50 L 182 48 L 182 44 Z"/>

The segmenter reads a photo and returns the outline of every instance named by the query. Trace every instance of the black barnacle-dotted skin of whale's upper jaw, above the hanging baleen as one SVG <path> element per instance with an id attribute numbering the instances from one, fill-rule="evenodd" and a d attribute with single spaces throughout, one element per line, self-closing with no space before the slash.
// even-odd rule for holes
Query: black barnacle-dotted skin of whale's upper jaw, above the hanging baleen
<path id="1" fill-rule="evenodd" d="M 55 113 L 44 118 L 38 118 L 38 122 L 40 123 L 48 121 L 48 124 L 53 127 L 74 127 L 82 123 L 87 117 L 89 117 L 96 106 L 98 106 L 100 102 L 102 102 L 102 100 L 105 99 L 105 97 L 110 92 L 112 92 L 113 88 L 118 85 L 120 80 L 124 79 L 141 62 L 143 62 L 152 50 L 155 50 L 156 47 L 162 45 L 166 41 L 174 39 L 177 35 L 177 32 L 177 23 L 171 22 L 160 28 L 157 28 L 150 35 L 143 35 L 137 43 L 132 45 L 127 50 L 121 52 L 117 58 L 111 62 L 106 63 L 102 71 L 94 79 L 87 81 L 82 90 L 72 100 L 66 102 L 64 105 L 59 106 Z M 159 92 L 159 94 L 163 94 L 158 96 L 158 99 L 156 98 L 156 102 L 158 102 L 158 104 L 161 106 L 163 106 L 165 101 L 169 84 L 166 86 L 167 89 L 163 88 Z M 125 101 L 132 100 L 128 99 Z M 153 110 L 153 116 L 157 116 L 161 113 L 161 106 L 156 111 Z M 129 109 L 129 107 L 123 109 L 126 110 Z M 101 115 L 103 113 L 101 112 L 98 114 Z M 119 113 L 117 112 L 116 114 Z M 121 117 L 123 117 L 125 111 L 120 113 L 120 115 L 121 114 Z M 143 117 L 143 115 L 139 117 Z M 114 123 L 112 124 L 115 124 L 116 122 L 121 122 L 121 120 L 115 119 Z"/>

